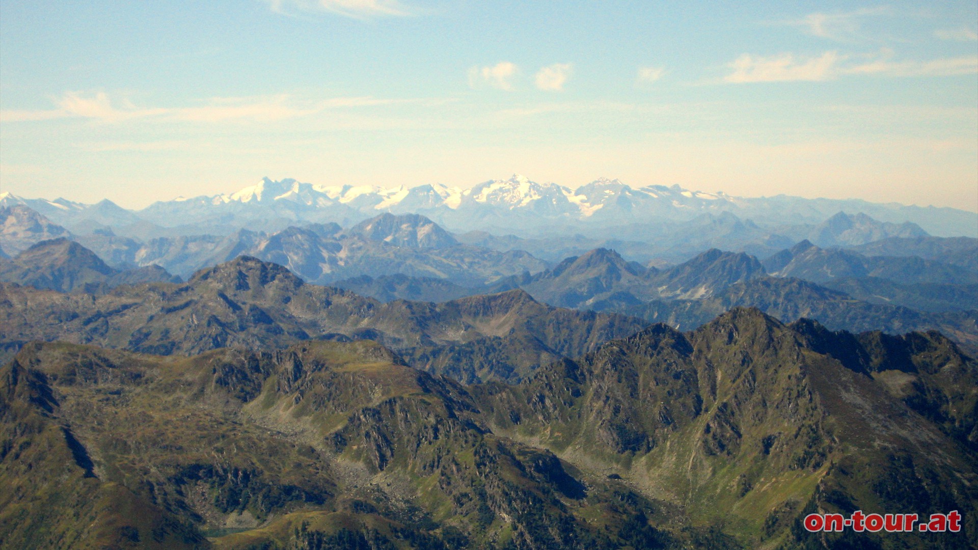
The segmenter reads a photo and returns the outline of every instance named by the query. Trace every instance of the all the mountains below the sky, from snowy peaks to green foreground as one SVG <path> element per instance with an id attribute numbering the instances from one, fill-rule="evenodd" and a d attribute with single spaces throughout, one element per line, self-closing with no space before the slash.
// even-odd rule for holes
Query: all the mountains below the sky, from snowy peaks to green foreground
<path id="1" fill-rule="evenodd" d="M 0 194 L 0 550 L 978 547 L 976 237 L 606 179 Z M 803 527 L 856 510 L 963 528 Z"/>

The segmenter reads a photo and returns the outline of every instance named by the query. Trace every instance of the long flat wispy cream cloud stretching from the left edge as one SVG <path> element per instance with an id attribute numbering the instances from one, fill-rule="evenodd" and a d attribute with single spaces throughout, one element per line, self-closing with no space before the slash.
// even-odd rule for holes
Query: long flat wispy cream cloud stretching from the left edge
<path id="1" fill-rule="evenodd" d="M 329 109 L 387 105 L 405 100 L 370 97 L 331 98 L 298 102 L 288 94 L 252 98 L 212 98 L 200 107 L 146 108 L 127 99 L 112 102 L 105 92 L 84 94 L 67 92 L 55 102 L 56 109 L 40 111 L 2 111 L 0 120 L 20 122 L 56 118 L 87 118 L 106 123 L 133 119 L 162 121 L 221 122 L 230 120 L 273 121 L 314 115 Z"/>

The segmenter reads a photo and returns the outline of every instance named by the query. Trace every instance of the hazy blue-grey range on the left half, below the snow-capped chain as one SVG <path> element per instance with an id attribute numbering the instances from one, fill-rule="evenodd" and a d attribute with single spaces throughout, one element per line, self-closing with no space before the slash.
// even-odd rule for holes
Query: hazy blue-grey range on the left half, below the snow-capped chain
<path id="1" fill-rule="evenodd" d="M 289 226 L 274 233 L 240 229 L 226 236 L 156 237 L 146 242 L 117 236 L 110 229 L 72 235 L 26 206 L 0 209 L 0 223 L 5 223 L 0 248 L 18 252 L 52 235 L 69 236 L 114 267 L 156 265 L 181 277 L 242 254 L 285 265 L 317 283 L 400 273 L 473 287 L 547 267 L 527 252 L 461 244 L 419 214 L 384 213 L 347 231 L 326 223 Z"/>

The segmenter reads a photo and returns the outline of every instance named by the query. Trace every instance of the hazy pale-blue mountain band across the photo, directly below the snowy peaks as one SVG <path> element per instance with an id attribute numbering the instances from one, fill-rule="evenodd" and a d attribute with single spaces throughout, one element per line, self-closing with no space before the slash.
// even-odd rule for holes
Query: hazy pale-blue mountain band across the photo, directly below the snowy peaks
<path id="1" fill-rule="evenodd" d="M 359 275 L 377 277 L 402 273 L 447 278 L 472 286 L 491 283 L 499 277 L 523 271 L 536 273 L 542 271 L 547 262 L 556 263 L 568 256 L 582 255 L 599 248 L 614 249 L 648 265 L 662 265 L 669 263 L 667 260 L 678 260 L 675 261 L 677 263 L 686 261 L 711 248 L 747 252 L 765 259 L 790 248 L 799 240 L 761 230 L 752 223 L 740 221 L 731 213 L 724 213 L 720 217 L 704 214 L 688 222 L 677 222 L 666 233 L 662 230 L 646 233 L 643 237 L 645 241 L 591 239 L 579 235 L 523 239 L 515 236 L 495 237 L 484 232 L 453 235 L 424 216 L 389 213 L 346 230 L 331 222 L 292 226 L 272 233 L 239 228 L 228 235 L 155 236 L 146 240 L 116 234 L 108 227 L 87 234 L 72 234 L 26 206 L 0 208 L 0 219 L 4 220 L 0 230 L 0 250 L 8 249 L 8 255 L 37 242 L 65 236 L 98 253 L 112 266 L 156 264 L 186 278 L 201 267 L 247 253 L 289 265 L 305 279 L 320 283 L 332 283 Z M 830 231 L 829 228 L 835 229 Z M 627 228 L 619 228 L 624 229 Z M 790 231 L 784 233 L 789 234 Z M 943 247 L 946 249 L 944 255 L 951 254 L 948 257 L 935 256 L 934 259 L 961 264 L 966 268 L 971 267 L 968 263 L 973 263 L 969 259 L 974 255 L 971 252 L 978 247 L 975 245 L 978 241 L 973 239 L 919 236 L 922 230 L 914 229 L 909 224 L 894 226 L 862 214 L 841 212 L 826 220 L 820 228 L 796 233 L 800 238 L 809 235 L 822 239 L 817 240 L 816 244 L 821 243 L 826 248 L 841 241 L 868 242 L 868 239 L 880 235 L 888 236 L 886 239 L 897 243 L 927 242 L 932 249 Z M 896 236 L 908 233 L 917 236 Z M 857 238 L 857 234 L 862 237 Z M 628 231 L 622 236 L 635 237 Z M 899 249 L 900 246 L 896 245 L 895 248 Z M 500 255 L 493 251 L 504 253 Z M 923 253 L 928 258 L 933 254 L 941 255 L 937 250 Z M 372 259 L 365 260 L 365 256 Z"/>

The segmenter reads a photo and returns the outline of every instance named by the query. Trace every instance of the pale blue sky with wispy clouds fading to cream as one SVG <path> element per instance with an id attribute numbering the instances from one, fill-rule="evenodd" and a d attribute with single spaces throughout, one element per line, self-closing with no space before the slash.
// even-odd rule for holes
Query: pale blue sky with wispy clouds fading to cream
<path id="1" fill-rule="evenodd" d="M 978 3 L 0 0 L 0 191 L 512 173 L 978 211 Z"/>

